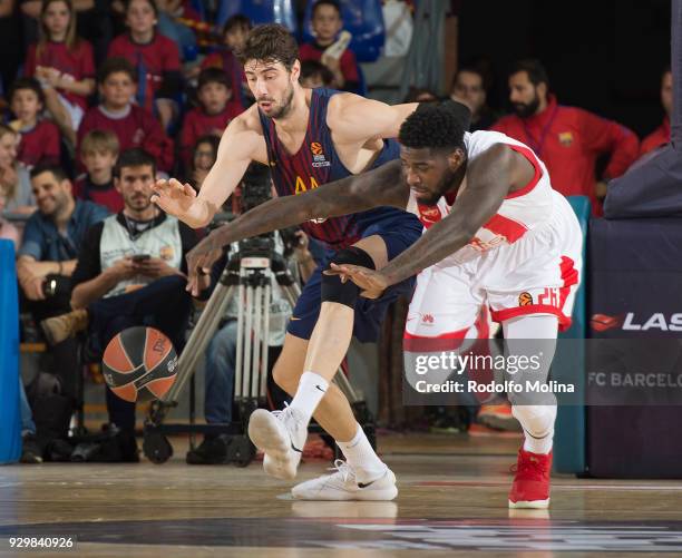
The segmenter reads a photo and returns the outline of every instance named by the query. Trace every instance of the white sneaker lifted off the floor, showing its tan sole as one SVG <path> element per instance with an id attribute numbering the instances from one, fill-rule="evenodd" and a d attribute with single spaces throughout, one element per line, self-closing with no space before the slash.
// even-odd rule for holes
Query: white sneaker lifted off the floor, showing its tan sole
<path id="1" fill-rule="evenodd" d="M 292 480 L 308 439 L 308 424 L 291 407 L 282 411 L 256 409 L 249 419 L 249 438 L 265 453 L 263 469 L 271 477 Z"/>

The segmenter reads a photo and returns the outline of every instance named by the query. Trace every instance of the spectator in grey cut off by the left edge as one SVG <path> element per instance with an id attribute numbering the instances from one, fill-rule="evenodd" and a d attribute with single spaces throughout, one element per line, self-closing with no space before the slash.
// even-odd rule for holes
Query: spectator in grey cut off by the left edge
<path id="1" fill-rule="evenodd" d="M 30 215 L 36 211 L 36 200 L 29 173 L 17 161 L 18 143 L 19 135 L 9 126 L 0 124 L 0 190 L 4 196 L 4 209 Z"/>

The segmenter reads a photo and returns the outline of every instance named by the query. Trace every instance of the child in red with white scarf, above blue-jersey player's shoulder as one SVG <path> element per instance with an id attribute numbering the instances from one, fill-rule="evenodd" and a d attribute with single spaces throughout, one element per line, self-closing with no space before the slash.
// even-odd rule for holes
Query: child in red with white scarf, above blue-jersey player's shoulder
<path id="1" fill-rule="evenodd" d="M 339 36 L 343 28 L 341 8 L 335 0 L 319 0 L 312 10 L 313 42 L 301 45 L 299 59 L 318 60 L 327 66 L 334 79 L 332 87 L 357 92 L 360 72 L 355 55 L 348 48 L 348 41 Z M 331 48 L 333 47 L 333 48 Z"/>

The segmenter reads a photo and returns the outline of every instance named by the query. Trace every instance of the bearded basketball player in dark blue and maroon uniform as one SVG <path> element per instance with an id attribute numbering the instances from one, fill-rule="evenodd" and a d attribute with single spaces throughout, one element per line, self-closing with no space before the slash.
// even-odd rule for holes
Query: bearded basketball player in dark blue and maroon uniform
<path id="1" fill-rule="evenodd" d="M 198 195 L 174 179 L 157 183 L 153 199 L 167 213 L 192 227 L 206 226 L 252 160 L 270 165 L 277 194 L 288 196 L 323 188 L 398 157 L 396 144 L 386 138 L 397 137 L 417 104 L 391 107 L 352 94 L 303 89 L 298 45 L 281 26 L 254 28 L 240 56 L 256 104 L 227 126 Z M 331 263 L 381 268 L 419 238 L 421 224 L 403 211 L 380 207 L 308 221 L 303 228 L 327 246 L 329 257 L 305 284 L 273 369 L 275 381 L 293 401 L 283 411 L 254 412 L 249 432 L 265 453 L 265 471 L 293 479 L 315 409 L 316 421 L 334 438 L 352 473 L 348 478 L 354 490 L 344 499 L 392 499 L 398 493 L 393 473 L 372 450 L 345 397 L 325 378 L 338 370 L 351 335 L 361 341 L 377 337 L 388 304 L 408 294 L 412 280 L 367 301 L 358 297 L 352 282 L 321 271 Z M 206 246 L 220 252 L 220 236 L 211 234 Z M 330 495 L 321 489 L 308 497 Z"/>

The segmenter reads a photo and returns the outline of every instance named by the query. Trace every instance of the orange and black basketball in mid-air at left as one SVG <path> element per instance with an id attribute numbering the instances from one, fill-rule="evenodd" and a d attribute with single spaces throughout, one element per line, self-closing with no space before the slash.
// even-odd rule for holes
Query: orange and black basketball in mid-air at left
<path id="1" fill-rule="evenodd" d="M 107 385 L 125 401 L 162 398 L 175 382 L 177 354 L 154 327 L 128 327 L 107 345 L 101 366 Z"/>

